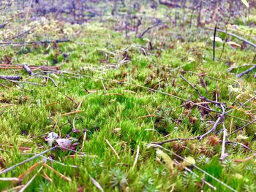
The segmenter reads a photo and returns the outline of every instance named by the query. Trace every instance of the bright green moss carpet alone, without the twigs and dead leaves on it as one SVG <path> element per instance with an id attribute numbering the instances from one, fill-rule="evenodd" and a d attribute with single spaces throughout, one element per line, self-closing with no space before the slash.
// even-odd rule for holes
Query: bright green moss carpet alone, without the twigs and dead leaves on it
<path id="1" fill-rule="evenodd" d="M 78 26 L 75 27 L 78 28 Z M 184 77 L 197 85 L 208 99 L 215 99 L 218 82 L 219 101 L 226 102 L 227 106 L 233 104 L 233 101 L 243 103 L 255 94 L 253 93 L 255 80 L 252 76 L 236 80 L 236 73 L 241 72 L 241 69 L 233 73 L 227 72 L 229 66 L 225 64 L 225 61 L 235 62 L 237 65 L 248 63 L 254 55 L 253 50 L 250 48 L 233 50 L 226 46 L 222 61 L 212 61 L 211 42 L 176 42 L 170 37 L 162 37 L 165 39 L 165 45 L 162 44 L 161 39 L 157 39 L 154 50 L 148 50 L 146 41 L 132 37 L 125 39 L 124 34 L 119 34 L 110 28 L 103 28 L 98 23 L 94 27 L 93 24 L 87 24 L 79 29 L 80 35 L 73 37 L 73 42 L 59 44 L 56 48 L 26 46 L 23 50 L 15 47 L 0 50 L 0 58 L 4 58 L 4 55 L 12 55 L 13 63 L 53 65 L 57 62 L 62 70 L 91 76 L 80 78 L 72 77 L 72 75 L 51 76 L 58 83 L 57 88 L 51 82 L 41 87 L 26 83 L 15 85 L 1 80 L 3 84 L 0 87 L 1 161 L 9 167 L 29 157 L 24 153 L 40 153 L 48 149 L 49 145 L 45 142 L 44 134 L 51 131 L 59 134 L 60 131 L 62 138 L 69 136 L 73 143 L 77 142 L 78 150 L 83 147 L 84 153 L 97 155 L 97 158 L 78 156 L 65 158 L 71 153 L 64 150 L 51 151 L 46 155 L 53 157 L 56 161 L 80 168 L 75 169 L 49 162 L 48 164 L 53 166 L 53 169 L 70 177 L 72 181 L 67 182 L 48 169 L 44 169 L 53 182 L 45 180 L 40 172 L 29 185 L 28 191 L 97 191 L 89 175 L 97 180 L 105 191 L 170 191 L 173 186 L 174 191 L 200 191 L 202 172 L 192 169 L 200 176 L 197 178 L 193 174 L 186 175 L 184 170 L 177 166 L 174 170 L 170 170 L 168 164 L 163 163 L 162 159 L 157 157 L 156 150 L 148 148 L 147 145 L 165 139 L 187 138 L 203 134 L 212 126 L 208 120 L 216 120 L 217 114 L 211 112 L 211 116 L 207 115 L 205 119 L 201 119 L 197 107 L 181 106 L 184 101 L 162 93 L 152 93 L 135 85 L 155 88 L 183 99 L 199 102 L 195 90 L 178 75 L 181 74 L 181 70 L 184 70 L 187 71 L 183 74 Z M 156 32 L 154 36 L 157 35 Z M 169 43 L 173 43 L 174 48 L 170 48 Z M 118 69 L 110 69 L 102 73 L 107 69 L 107 65 L 115 65 L 116 61 L 121 61 L 124 58 L 124 49 L 130 45 L 137 45 L 127 51 L 131 61 L 119 66 Z M 148 55 L 143 54 L 141 48 L 138 48 L 140 46 L 145 47 Z M 219 45 L 217 56 L 221 49 L 222 46 Z M 113 54 L 111 55 L 110 52 Z M 67 53 L 69 57 L 65 59 L 63 53 Z M 105 58 L 106 54 L 108 59 Z M 87 66 L 98 69 L 86 69 Z M 101 66 L 105 66 L 105 69 L 99 68 Z M 180 68 L 176 69 L 177 67 Z M 0 70 L 0 72 L 12 75 L 22 74 L 23 77 L 28 77 L 23 70 Z M 206 93 L 206 89 L 200 84 L 198 75 L 189 72 L 207 73 L 208 76 L 217 78 L 217 80 L 202 77 L 206 82 Z M 103 77 L 108 80 L 101 82 L 94 77 Z M 110 81 L 124 79 L 134 85 Z M 41 79 L 32 77 L 29 81 L 40 83 Z M 233 88 L 239 88 L 239 93 L 230 93 L 228 89 L 230 85 L 233 85 Z M 243 90 L 241 90 L 242 85 Z M 89 90 L 96 92 L 87 93 L 86 91 Z M 108 93 L 113 94 L 108 95 Z M 237 97 L 240 93 L 243 95 Z M 82 112 L 60 116 L 75 111 L 77 108 L 67 96 L 76 103 L 83 101 L 80 106 Z M 1 107 L 5 104 L 13 104 L 13 106 Z M 219 110 L 219 107 L 214 105 L 211 107 Z M 244 110 L 232 112 L 231 114 L 235 117 L 225 119 L 227 130 L 230 131 L 231 124 L 232 130 L 246 124 L 236 117 L 252 120 L 255 112 L 249 116 L 246 115 L 245 110 L 254 109 L 255 101 L 246 104 Z M 140 118 L 144 115 L 154 116 Z M 80 130 L 80 133 L 72 132 L 72 125 L 68 123 L 72 122 L 74 117 L 75 127 Z M 86 141 L 82 146 L 85 129 Z M 221 129 L 222 126 L 217 127 L 217 130 Z M 249 138 L 239 140 L 239 134 Z M 216 137 L 222 139 L 222 132 Z M 108 146 L 106 139 L 118 153 L 119 160 Z M 243 142 L 255 150 L 255 125 L 248 126 L 241 133 L 233 134 L 230 140 Z M 138 162 L 135 169 L 132 169 L 138 146 L 140 147 Z M 29 147 L 31 150 L 20 151 L 18 147 Z M 242 164 L 234 162 L 235 159 L 244 159 L 252 155 L 242 147 L 227 145 L 229 156 L 224 162 L 219 162 L 221 143 L 211 144 L 210 137 L 206 137 L 201 142 L 170 142 L 164 147 L 182 157 L 194 157 L 197 166 L 237 191 L 249 191 L 248 188 L 252 188 L 251 191 L 255 190 L 253 189 L 256 179 L 255 161 L 246 161 Z M 172 153 L 167 153 L 167 155 L 170 155 L 171 159 L 182 162 Z M 208 162 L 202 161 L 203 155 L 208 157 Z M 40 160 L 37 158 L 18 166 L 7 174 L 3 174 L 2 177 L 18 177 Z M 35 172 L 31 172 L 23 183 L 27 183 Z M 217 191 L 229 191 L 208 176 L 206 176 L 206 181 L 217 187 Z M 0 190 L 14 186 L 10 182 L 1 181 Z M 207 185 L 204 186 L 204 190 L 211 191 Z"/>

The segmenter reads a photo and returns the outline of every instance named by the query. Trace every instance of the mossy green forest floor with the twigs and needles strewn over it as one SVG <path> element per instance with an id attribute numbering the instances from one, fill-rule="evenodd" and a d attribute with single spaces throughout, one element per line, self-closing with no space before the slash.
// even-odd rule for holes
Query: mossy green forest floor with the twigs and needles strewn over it
<path id="1" fill-rule="evenodd" d="M 255 33 L 233 24 L 245 39 Z M 214 31 L 205 28 L 165 26 L 138 38 L 111 21 L 33 25 L 33 37 L 71 41 L 1 47 L 9 66 L 0 74 L 23 79 L 0 80 L 0 170 L 53 145 L 69 150 L 55 147 L 1 174 L 20 181 L 2 179 L 0 191 L 256 190 L 255 71 L 236 77 L 252 66 L 249 45 L 233 38 L 238 45 L 222 53 L 217 42 L 213 61 Z"/>

